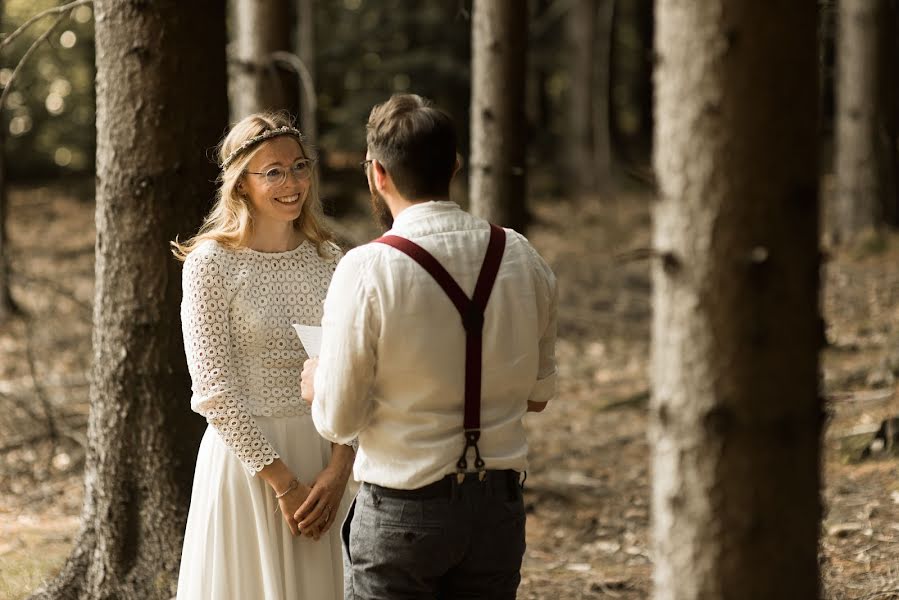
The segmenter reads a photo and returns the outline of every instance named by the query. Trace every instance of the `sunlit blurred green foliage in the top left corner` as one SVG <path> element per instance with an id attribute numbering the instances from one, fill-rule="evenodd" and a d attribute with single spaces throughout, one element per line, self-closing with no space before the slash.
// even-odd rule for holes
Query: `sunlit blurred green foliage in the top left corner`
<path id="1" fill-rule="evenodd" d="M 4 0 L 4 34 L 57 5 L 53 0 Z M 45 17 L 4 48 L 0 83 L 7 83 L 22 55 L 55 19 Z M 92 171 L 96 135 L 91 7 L 79 7 L 63 19 L 12 85 L 0 121 L 10 178 Z"/>

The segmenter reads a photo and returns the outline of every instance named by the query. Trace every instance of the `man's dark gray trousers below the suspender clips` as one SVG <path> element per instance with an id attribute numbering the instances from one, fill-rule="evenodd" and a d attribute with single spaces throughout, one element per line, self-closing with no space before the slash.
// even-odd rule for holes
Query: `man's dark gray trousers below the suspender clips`
<path id="1" fill-rule="evenodd" d="M 525 549 L 517 474 L 443 483 L 425 497 L 362 484 L 341 530 L 346 600 L 515 598 Z"/>

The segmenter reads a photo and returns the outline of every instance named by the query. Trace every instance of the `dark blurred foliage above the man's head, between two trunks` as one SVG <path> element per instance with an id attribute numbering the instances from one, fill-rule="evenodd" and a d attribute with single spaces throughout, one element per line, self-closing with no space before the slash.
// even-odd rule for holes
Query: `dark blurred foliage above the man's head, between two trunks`
<path id="1" fill-rule="evenodd" d="M 434 100 L 467 147 L 471 21 L 459 2 L 316 3 L 316 71 L 323 148 L 365 152 L 365 122 L 393 93 Z"/>

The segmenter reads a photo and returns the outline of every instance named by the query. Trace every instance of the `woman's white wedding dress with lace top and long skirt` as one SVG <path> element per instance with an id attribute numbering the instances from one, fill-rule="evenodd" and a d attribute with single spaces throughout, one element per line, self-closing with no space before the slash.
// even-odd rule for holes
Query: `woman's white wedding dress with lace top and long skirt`
<path id="1" fill-rule="evenodd" d="M 209 427 L 197 457 L 178 600 L 343 598 L 340 524 L 352 490 L 328 534 L 314 541 L 290 535 L 272 490 L 255 476 L 280 457 L 309 483 L 330 457 L 300 398 L 306 354 L 291 326 L 321 322 L 339 254 L 329 250 L 322 258 L 310 242 L 262 253 L 207 241 L 184 264 L 191 407 Z"/>

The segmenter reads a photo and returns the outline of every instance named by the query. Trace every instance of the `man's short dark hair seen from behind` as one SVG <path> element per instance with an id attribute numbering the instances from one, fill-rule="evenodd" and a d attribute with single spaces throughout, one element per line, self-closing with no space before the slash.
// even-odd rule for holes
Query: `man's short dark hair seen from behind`
<path id="1" fill-rule="evenodd" d="M 447 198 L 456 166 L 452 118 L 415 94 L 397 94 L 371 110 L 368 150 L 408 199 Z"/>

